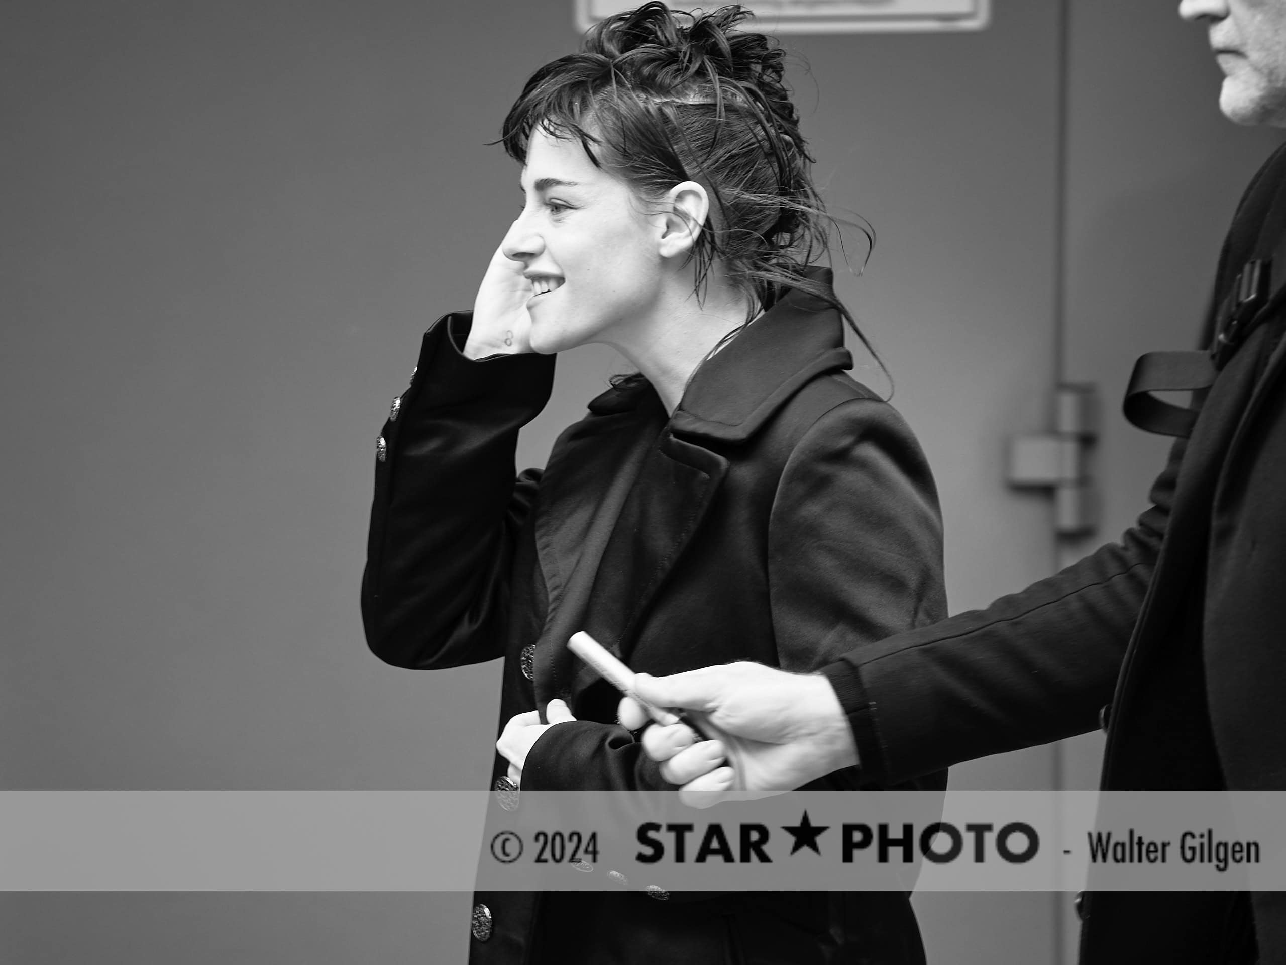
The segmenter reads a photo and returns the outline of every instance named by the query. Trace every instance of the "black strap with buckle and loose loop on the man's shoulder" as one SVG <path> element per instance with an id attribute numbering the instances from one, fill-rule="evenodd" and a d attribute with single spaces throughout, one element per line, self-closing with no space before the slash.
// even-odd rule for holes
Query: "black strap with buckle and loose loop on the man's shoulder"
<path id="1" fill-rule="evenodd" d="M 1251 257 L 1215 305 L 1209 346 L 1204 351 L 1152 351 L 1134 363 L 1121 408 L 1125 418 L 1145 432 L 1187 437 L 1200 409 L 1173 405 L 1152 392 L 1209 389 L 1246 336 L 1271 317 L 1265 311 L 1269 302 L 1277 302 L 1286 291 L 1286 184 L 1274 178 L 1264 187 L 1273 190 L 1272 203 L 1259 224 Z M 1245 232 L 1237 224 L 1229 230 L 1226 251 L 1238 229 Z M 1245 250 L 1245 243 L 1241 247 Z"/>

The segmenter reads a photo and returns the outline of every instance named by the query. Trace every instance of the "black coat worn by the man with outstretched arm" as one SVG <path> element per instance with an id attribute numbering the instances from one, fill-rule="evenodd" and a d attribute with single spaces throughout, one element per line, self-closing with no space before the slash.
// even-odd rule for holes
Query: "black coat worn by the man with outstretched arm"
<path id="1" fill-rule="evenodd" d="M 1217 304 L 1283 190 L 1278 151 L 1238 207 Z M 1286 789 L 1286 292 L 1263 314 L 1120 543 L 826 669 L 867 773 L 907 780 L 1102 722 L 1105 789 Z M 1082 961 L 1250 961 L 1251 906 L 1260 961 L 1286 962 L 1286 894 L 1184 892 L 1085 896 Z"/>

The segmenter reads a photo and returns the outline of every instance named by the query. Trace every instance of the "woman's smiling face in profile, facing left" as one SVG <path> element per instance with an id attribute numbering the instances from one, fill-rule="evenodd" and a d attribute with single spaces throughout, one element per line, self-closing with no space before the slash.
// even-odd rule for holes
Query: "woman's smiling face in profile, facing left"
<path id="1" fill-rule="evenodd" d="M 531 347 L 620 346 L 661 293 L 657 215 L 630 187 L 595 167 L 576 139 L 532 133 L 522 169 L 522 214 L 502 250 L 532 283 Z"/>

